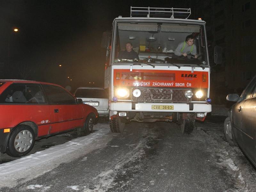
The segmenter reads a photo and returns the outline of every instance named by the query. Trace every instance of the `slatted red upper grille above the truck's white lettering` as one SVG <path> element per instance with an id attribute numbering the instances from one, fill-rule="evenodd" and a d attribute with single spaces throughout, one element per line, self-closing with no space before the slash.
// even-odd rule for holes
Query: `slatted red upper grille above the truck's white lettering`
<path id="1" fill-rule="evenodd" d="M 175 81 L 175 73 L 122 72 L 122 80 L 169 80 Z"/>

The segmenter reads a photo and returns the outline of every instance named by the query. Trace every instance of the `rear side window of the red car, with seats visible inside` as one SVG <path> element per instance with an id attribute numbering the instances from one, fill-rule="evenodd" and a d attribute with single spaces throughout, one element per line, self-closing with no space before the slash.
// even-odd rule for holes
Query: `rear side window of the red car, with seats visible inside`
<path id="1" fill-rule="evenodd" d="M 1 103 L 45 103 L 40 84 L 14 83 L 7 87 L 0 96 Z"/>

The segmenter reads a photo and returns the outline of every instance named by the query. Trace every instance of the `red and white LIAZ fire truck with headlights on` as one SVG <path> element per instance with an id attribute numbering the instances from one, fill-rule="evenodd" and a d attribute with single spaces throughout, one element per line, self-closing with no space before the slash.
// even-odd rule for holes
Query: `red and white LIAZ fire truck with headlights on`
<path id="1" fill-rule="evenodd" d="M 131 7 L 130 17 L 115 18 L 103 33 L 112 132 L 131 121 L 166 121 L 190 134 L 195 120 L 212 111 L 205 21 L 188 19 L 190 14 L 190 8 Z M 183 54 L 187 36 L 194 44 Z M 120 57 L 127 44 L 137 58 Z M 221 58 L 221 48 L 214 47 L 214 62 Z"/>

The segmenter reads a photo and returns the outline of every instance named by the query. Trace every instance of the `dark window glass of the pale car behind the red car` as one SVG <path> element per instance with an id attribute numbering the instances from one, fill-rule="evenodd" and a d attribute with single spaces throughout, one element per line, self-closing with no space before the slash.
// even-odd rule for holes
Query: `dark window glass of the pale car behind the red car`
<path id="1" fill-rule="evenodd" d="M 101 89 L 77 89 L 75 97 L 108 99 L 108 94 L 105 90 Z"/>

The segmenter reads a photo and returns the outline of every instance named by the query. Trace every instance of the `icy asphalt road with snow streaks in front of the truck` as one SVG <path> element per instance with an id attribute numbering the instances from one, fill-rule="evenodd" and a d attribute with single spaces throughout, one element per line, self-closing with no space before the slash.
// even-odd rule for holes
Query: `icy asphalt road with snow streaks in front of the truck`
<path id="1" fill-rule="evenodd" d="M 96 131 L 0 165 L 0 191 L 255 191 L 255 169 L 223 140 L 224 116 L 182 135 L 174 123 Z"/>

